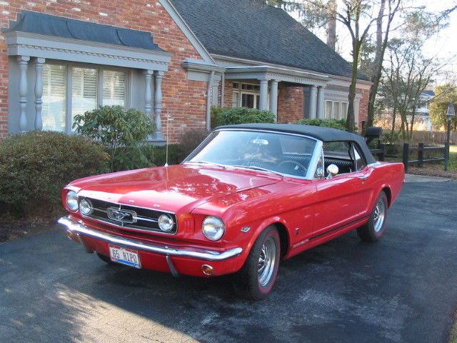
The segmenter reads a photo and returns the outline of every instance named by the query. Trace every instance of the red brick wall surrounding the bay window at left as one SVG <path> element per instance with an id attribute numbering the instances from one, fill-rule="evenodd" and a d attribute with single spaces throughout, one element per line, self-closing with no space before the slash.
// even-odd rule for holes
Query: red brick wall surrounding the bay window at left
<path id="1" fill-rule="evenodd" d="M 201 59 L 201 56 L 158 1 L 1 0 L 0 27 L 8 27 L 9 20 L 15 20 L 22 9 L 150 31 L 162 49 L 173 53 L 163 81 L 162 131 L 166 131 L 167 108 L 170 118 L 179 123 L 170 131 L 171 141 L 179 139 L 186 128 L 204 128 L 206 82 L 187 81 L 186 71 L 181 67 L 184 59 Z M 8 59 L 5 39 L 0 33 L 0 139 L 6 137 L 7 123 Z"/>

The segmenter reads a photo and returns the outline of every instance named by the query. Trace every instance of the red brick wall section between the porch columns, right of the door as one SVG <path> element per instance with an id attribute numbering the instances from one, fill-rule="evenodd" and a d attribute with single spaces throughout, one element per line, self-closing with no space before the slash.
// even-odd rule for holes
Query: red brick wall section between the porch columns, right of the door
<path id="1" fill-rule="evenodd" d="M 278 123 L 303 119 L 303 87 L 279 84 Z"/>

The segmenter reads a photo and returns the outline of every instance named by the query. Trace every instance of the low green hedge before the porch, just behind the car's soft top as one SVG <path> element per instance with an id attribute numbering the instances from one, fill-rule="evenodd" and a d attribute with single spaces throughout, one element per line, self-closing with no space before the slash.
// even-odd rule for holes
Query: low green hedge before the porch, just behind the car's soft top
<path id="1" fill-rule="evenodd" d="M 274 123 L 275 116 L 270 111 L 258 109 L 233 108 L 214 111 L 214 126 L 248 124 L 248 123 Z"/>

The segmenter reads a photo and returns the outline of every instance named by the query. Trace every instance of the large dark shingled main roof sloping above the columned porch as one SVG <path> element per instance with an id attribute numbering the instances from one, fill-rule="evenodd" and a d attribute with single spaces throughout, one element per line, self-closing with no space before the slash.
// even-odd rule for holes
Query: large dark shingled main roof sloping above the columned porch
<path id="1" fill-rule="evenodd" d="M 212 54 L 351 77 L 345 59 L 282 9 L 256 0 L 171 2 Z"/>

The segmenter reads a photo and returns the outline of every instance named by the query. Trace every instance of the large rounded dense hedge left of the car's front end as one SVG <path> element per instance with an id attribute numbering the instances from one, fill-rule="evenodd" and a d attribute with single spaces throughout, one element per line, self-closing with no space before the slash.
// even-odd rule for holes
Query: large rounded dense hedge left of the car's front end
<path id="1" fill-rule="evenodd" d="M 74 179 L 108 172 L 101 144 L 58 132 L 29 132 L 0 141 L 0 204 L 11 214 L 53 215 L 62 187 Z"/>

